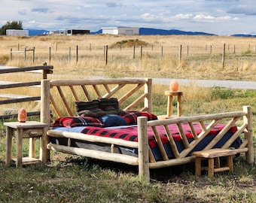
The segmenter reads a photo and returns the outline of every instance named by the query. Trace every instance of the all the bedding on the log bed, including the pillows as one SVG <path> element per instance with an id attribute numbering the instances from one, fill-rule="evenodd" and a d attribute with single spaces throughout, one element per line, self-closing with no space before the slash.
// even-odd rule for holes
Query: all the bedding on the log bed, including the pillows
<path id="1" fill-rule="evenodd" d="M 102 136 L 107 138 L 117 138 L 123 139 L 126 141 L 138 141 L 138 126 L 137 118 L 138 117 L 147 117 L 148 120 L 157 120 L 157 116 L 145 111 L 122 111 L 119 108 L 119 104 L 117 98 L 102 98 L 99 100 L 93 100 L 91 102 L 76 102 L 76 109 L 78 117 L 60 117 L 58 118 L 54 125 L 53 129 L 66 131 L 66 132 L 79 132 L 86 134 L 84 136 Z M 207 126 L 207 124 L 206 124 Z M 178 131 L 178 126 L 176 124 L 170 124 L 168 126 L 169 131 L 172 135 L 172 138 L 175 141 L 178 152 L 184 150 L 184 144 L 182 142 L 181 135 Z M 200 141 L 200 144 L 197 144 L 187 156 L 190 156 L 196 150 L 203 150 L 204 147 L 215 138 L 215 135 L 218 135 L 218 132 L 221 132 L 221 129 L 224 128 L 224 125 L 217 124 L 209 135 L 203 138 Z M 192 132 L 190 131 L 190 126 L 188 123 L 182 123 L 182 129 L 184 130 L 184 135 L 186 135 L 188 142 L 194 141 L 194 137 Z M 194 130 L 197 135 L 200 135 L 202 132 L 201 126 L 198 123 L 194 124 Z M 223 146 L 226 141 L 236 132 L 236 126 L 233 126 L 229 132 L 227 132 L 221 141 L 215 144 L 214 148 L 220 148 Z M 167 156 L 169 159 L 173 159 L 174 154 L 172 153 L 172 148 L 169 144 L 169 138 L 166 135 L 166 130 L 163 126 L 157 126 L 157 132 L 160 135 L 160 138 L 163 142 L 163 147 L 166 150 Z M 67 138 L 50 138 L 50 141 L 54 144 L 63 144 L 67 145 Z M 233 142 L 231 147 L 238 148 L 242 143 L 240 138 L 237 138 L 236 141 Z M 154 159 L 162 160 L 159 147 L 157 145 L 157 141 L 154 137 L 154 132 L 151 127 L 148 127 L 148 144 L 151 147 L 151 151 L 153 153 Z M 98 146 L 98 150 L 101 150 L 101 146 Z M 96 147 L 96 144 L 86 144 L 85 141 L 72 141 L 72 147 L 83 147 L 88 148 Z M 117 146 L 118 147 L 118 146 Z M 137 156 L 137 149 L 130 149 L 124 147 L 118 147 L 120 153 L 123 150 L 130 151 Z"/>

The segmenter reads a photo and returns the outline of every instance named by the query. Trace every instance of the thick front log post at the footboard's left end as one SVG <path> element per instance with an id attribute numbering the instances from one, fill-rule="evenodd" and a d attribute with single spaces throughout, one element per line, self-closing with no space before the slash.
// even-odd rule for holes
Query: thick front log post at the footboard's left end
<path id="1" fill-rule="evenodd" d="M 148 118 L 138 117 L 138 155 L 139 155 L 139 177 L 147 182 L 150 181 L 148 166 Z"/>

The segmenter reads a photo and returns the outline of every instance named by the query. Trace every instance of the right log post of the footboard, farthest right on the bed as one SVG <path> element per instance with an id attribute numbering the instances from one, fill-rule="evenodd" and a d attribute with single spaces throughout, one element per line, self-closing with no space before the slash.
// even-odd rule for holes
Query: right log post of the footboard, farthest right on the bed
<path id="1" fill-rule="evenodd" d="M 245 139 L 248 141 L 248 151 L 245 153 L 245 156 L 246 161 L 251 164 L 254 162 L 251 106 L 243 106 L 242 110 L 246 113 L 246 115 L 243 117 L 243 122 L 247 123 L 247 132 L 245 132 Z"/>

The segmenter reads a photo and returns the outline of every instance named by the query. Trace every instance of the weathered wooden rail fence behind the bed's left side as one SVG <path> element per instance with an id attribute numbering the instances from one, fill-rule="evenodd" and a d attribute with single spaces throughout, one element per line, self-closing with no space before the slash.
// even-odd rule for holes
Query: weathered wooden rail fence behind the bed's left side
<path id="1" fill-rule="evenodd" d="M 35 74 L 40 73 L 41 78 L 36 81 L 29 81 L 29 82 L 17 82 L 17 81 L 0 81 L 0 108 L 4 105 L 11 105 L 20 102 L 38 102 L 41 100 L 40 93 L 36 96 L 30 96 L 29 92 L 33 91 L 32 87 L 40 87 L 41 86 L 41 79 L 47 79 L 47 74 L 53 73 L 53 66 L 52 65 L 41 65 L 41 66 L 32 66 L 32 67 L 23 67 L 23 68 L 1 68 L 0 67 L 0 74 L 11 74 L 15 77 L 15 73 L 25 72 L 26 74 Z M 2 77 L 1 77 L 2 78 Z M 17 88 L 24 88 L 30 87 L 27 91 L 27 95 L 16 95 L 10 94 L 9 92 L 11 89 Z M 5 92 L 5 93 L 4 93 Z M 34 91 L 35 92 L 35 91 Z M 12 114 L 12 111 L 5 111 L 5 114 L 0 115 L 0 119 L 8 119 L 11 117 L 17 117 L 17 114 Z M 31 111 L 27 112 L 28 116 L 35 116 L 40 115 L 40 111 Z"/>

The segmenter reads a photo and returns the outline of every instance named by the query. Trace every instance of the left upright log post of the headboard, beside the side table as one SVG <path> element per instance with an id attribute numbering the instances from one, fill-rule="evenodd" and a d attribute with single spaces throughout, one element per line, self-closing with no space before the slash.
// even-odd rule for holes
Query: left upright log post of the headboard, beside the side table
<path id="1" fill-rule="evenodd" d="M 41 123 L 47 123 L 48 129 L 50 129 L 50 80 L 41 80 Z M 47 129 L 47 130 L 48 130 Z M 50 150 L 47 150 L 47 144 L 49 143 L 49 137 L 46 133 L 42 135 L 43 142 L 45 144 L 44 154 L 42 159 L 45 161 L 50 160 Z"/>

